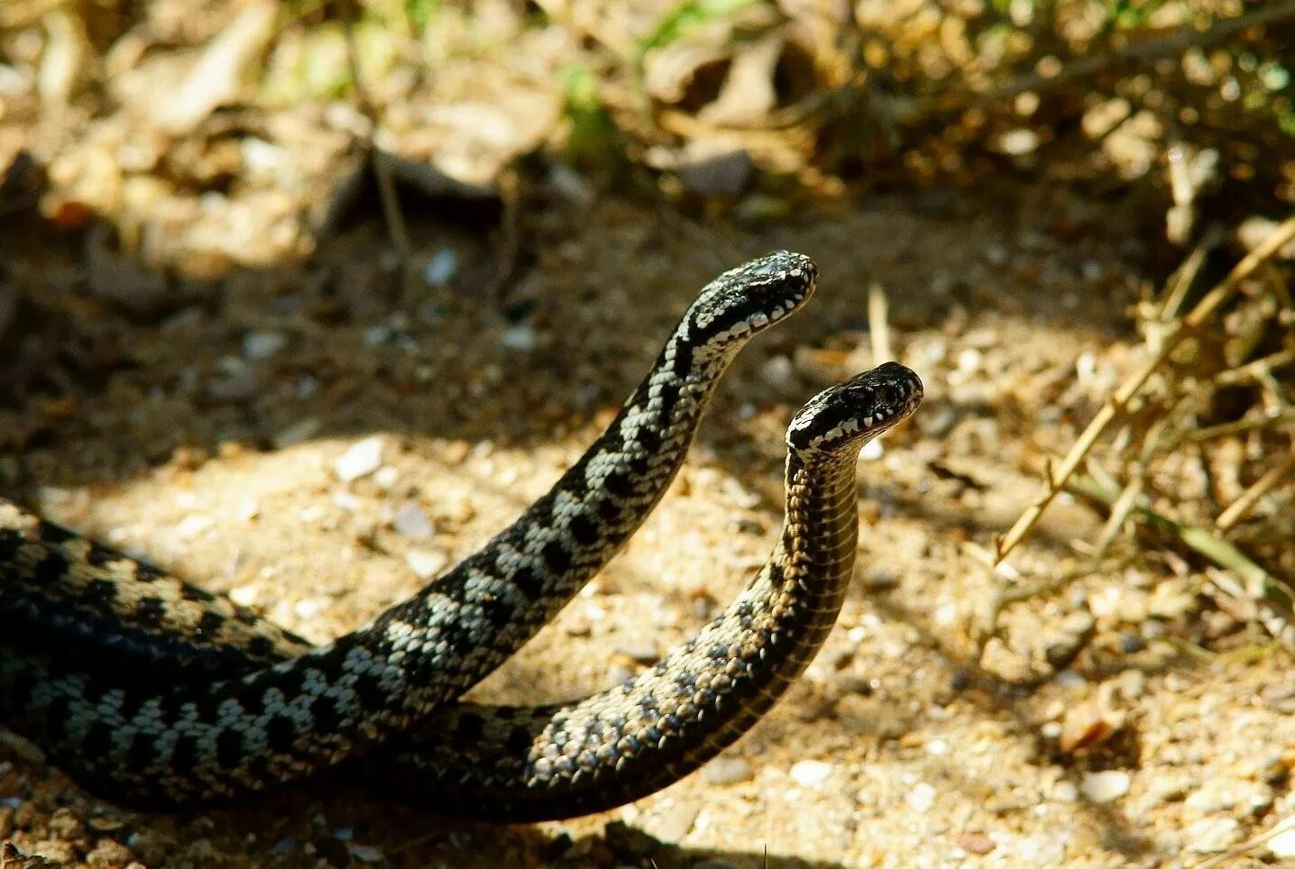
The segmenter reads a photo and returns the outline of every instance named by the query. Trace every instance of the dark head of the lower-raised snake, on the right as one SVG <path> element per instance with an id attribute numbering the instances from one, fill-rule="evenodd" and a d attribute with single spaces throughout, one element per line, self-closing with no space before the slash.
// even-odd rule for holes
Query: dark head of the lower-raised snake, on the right
<path id="1" fill-rule="evenodd" d="M 899 363 L 855 374 L 809 399 L 787 426 L 794 452 L 834 452 L 899 425 L 922 403 L 922 381 Z"/>

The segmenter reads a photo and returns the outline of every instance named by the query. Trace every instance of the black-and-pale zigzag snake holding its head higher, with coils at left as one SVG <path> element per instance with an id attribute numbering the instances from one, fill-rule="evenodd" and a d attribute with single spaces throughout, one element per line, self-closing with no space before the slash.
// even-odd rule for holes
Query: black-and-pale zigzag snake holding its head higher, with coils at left
<path id="1" fill-rule="evenodd" d="M 5 724 L 89 790 L 159 808 L 278 787 L 399 741 L 623 548 L 681 466 L 721 374 L 816 280 L 808 256 L 778 251 L 707 284 L 602 435 L 517 521 L 368 626 L 286 659 L 286 632 L 0 504 L 0 618 L 18 649 L 0 657 Z M 95 666 L 104 644 L 164 657 L 180 635 L 206 662 L 193 672 L 214 677 Z M 221 675 L 236 648 L 258 666 Z"/>

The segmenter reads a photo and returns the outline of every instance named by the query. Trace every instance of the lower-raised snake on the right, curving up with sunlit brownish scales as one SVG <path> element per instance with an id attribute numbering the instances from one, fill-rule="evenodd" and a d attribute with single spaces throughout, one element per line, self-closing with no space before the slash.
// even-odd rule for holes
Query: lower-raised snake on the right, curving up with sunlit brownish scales
<path id="1" fill-rule="evenodd" d="M 504 822 L 605 811 L 689 774 L 746 733 L 821 648 L 853 572 L 859 452 L 912 416 L 922 394 L 916 373 L 887 363 L 793 417 L 773 553 L 730 606 L 650 670 L 569 703 L 457 703 L 394 756 L 350 772 L 387 796 Z"/>

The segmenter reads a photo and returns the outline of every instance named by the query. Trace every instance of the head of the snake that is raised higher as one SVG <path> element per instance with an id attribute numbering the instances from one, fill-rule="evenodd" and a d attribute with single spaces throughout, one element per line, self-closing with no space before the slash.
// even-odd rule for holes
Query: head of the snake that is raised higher
<path id="1" fill-rule="evenodd" d="M 786 250 L 752 259 L 707 284 L 684 319 L 693 354 L 736 351 L 790 316 L 813 293 L 818 267 Z"/>

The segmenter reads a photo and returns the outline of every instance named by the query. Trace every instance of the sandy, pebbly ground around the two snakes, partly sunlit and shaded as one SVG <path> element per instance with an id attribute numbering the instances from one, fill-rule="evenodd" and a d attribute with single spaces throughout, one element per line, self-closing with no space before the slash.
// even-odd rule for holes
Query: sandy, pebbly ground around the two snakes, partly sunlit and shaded
<path id="1" fill-rule="evenodd" d="M 95 352 L 65 360 L 74 398 L 5 411 L 21 446 L 0 452 L 3 492 L 322 641 L 544 492 L 708 277 L 773 247 L 815 256 L 817 297 L 743 352 L 664 502 L 474 692 L 486 699 L 624 679 L 732 598 L 781 522 L 787 418 L 873 364 L 874 282 L 927 401 L 861 464 L 855 588 L 809 672 L 723 758 L 655 796 L 517 828 L 325 787 L 136 815 L 4 736 L 0 838 L 92 866 L 1194 865 L 1290 815 L 1286 655 L 1202 611 L 1182 558 L 1010 607 L 983 657 L 967 638 L 992 592 L 974 547 L 1011 523 L 1041 457 L 1132 365 L 1125 308 L 1146 280 L 1110 214 L 1048 192 L 1002 211 L 963 194 L 877 197 L 738 232 L 615 201 L 558 210 L 502 313 L 470 294 L 401 298 L 366 225 L 161 316 L 96 320 Z M 487 260 L 451 221 L 425 219 L 423 242 Z M 0 247 L 58 280 L 56 246 Z M 40 372 L 21 373 L 39 386 Z M 377 468 L 339 480 L 338 458 L 369 438 Z M 1014 563 L 1059 572 L 1101 521 L 1058 504 Z M 1067 711 L 1089 707 L 1112 736 L 1062 750 Z"/>

